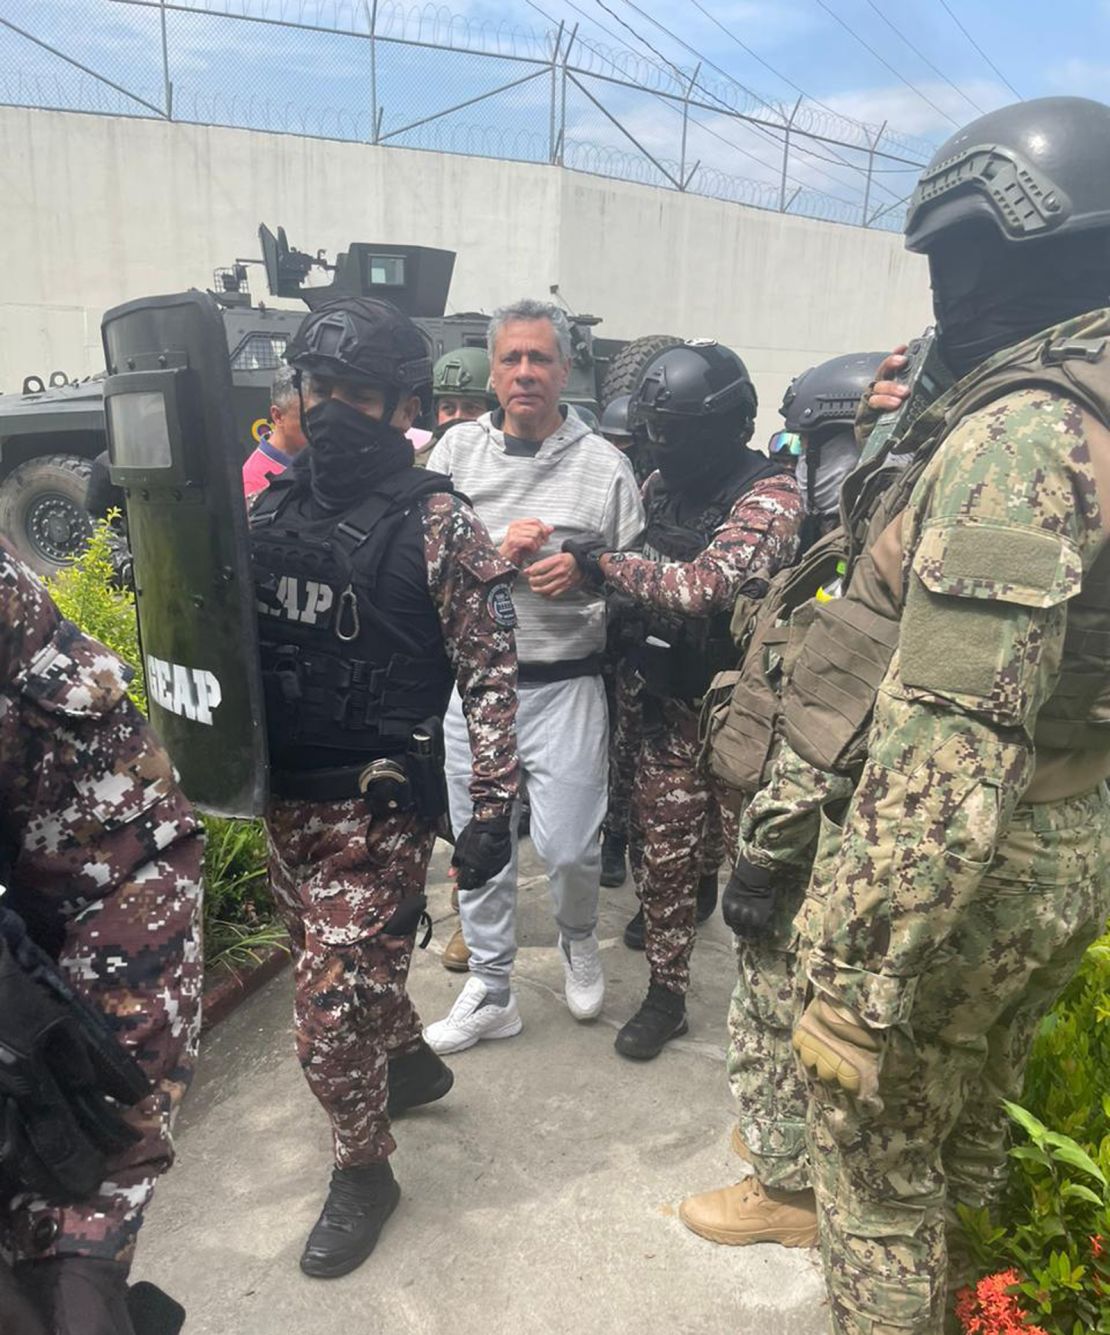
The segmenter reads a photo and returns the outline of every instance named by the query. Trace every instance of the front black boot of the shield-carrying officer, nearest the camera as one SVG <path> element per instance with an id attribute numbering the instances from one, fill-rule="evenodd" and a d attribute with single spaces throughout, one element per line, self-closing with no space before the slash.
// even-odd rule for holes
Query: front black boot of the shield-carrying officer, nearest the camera
<path id="1" fill-rule="evenodd" d="M 389 1160 L 333 1168 L 331 1189 L 309 1234 L 301 1268 L 314 1279 L 337 1279 L 361 1266 L 401 1200 Z"/>

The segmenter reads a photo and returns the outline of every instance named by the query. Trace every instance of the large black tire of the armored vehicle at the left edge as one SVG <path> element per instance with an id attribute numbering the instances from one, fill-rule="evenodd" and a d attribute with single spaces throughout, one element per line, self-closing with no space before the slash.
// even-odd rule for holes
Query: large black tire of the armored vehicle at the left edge
<path id="1" fill-rule="evenodd" d="M 0 483 L 0 534 L 37 574 L 52 575 L 84 550 L 91 473 L 91 459 L 48 454 L 20 463 Z"/>

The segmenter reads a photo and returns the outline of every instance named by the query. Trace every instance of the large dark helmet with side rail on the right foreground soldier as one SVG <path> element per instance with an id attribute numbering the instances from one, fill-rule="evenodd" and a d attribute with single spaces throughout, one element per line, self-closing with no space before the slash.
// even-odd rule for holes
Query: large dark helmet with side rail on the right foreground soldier
<path id="1" fill-rule="evenodd" d="M 926 167 L 906 215 L 906 246 L 976 219 L 1007 242 L 1110 227 L 1110 107 L 1039 97 L 958 131 Z"/>

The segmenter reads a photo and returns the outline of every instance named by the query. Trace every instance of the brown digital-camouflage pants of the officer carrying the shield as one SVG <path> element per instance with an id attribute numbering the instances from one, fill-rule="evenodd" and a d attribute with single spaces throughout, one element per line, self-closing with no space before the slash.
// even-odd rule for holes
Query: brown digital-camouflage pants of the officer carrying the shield
<path id="1" fill-rule="evenodd" d="M 421 1019 L 405 991 L 413 937 L 382 936 L 423 889 L 434 833 L 413 813 L 371 821 L 362 801 L 275 801 L 266 820 L 274 897 L 293 939 L 297 1056 L 331 1120 L 341 1168 L 395 1149 L 387 1061 Z"/>

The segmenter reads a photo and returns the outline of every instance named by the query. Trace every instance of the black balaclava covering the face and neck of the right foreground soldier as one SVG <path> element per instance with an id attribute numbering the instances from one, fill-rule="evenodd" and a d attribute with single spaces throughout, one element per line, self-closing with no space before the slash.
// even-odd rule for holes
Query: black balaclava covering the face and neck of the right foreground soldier
<path id="1" fill-rule="evenodd" d="M 1042 330 L 1110 304 L 1110 234 L 1015 246 L 990 226 L 940 238 L 928 254 L 940 355 L 958 376 Z"/>

